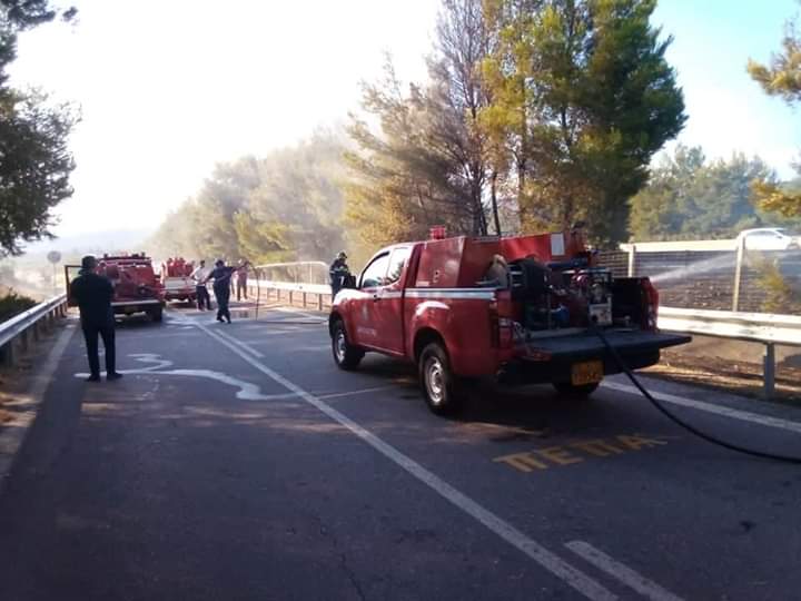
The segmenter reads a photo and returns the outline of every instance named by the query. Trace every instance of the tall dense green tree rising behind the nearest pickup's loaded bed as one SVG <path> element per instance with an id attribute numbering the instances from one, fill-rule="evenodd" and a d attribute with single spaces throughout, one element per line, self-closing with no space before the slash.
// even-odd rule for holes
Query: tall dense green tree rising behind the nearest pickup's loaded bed
<path id="1" fill-rule="evenodd" d="M 623 239 L 627 200 L 683 127 L 684 102 L 650 24 L 655 0 L 486 0 L 497 45 L 482 120 L 516 169 L 524 230 L 587 221 Z"/>

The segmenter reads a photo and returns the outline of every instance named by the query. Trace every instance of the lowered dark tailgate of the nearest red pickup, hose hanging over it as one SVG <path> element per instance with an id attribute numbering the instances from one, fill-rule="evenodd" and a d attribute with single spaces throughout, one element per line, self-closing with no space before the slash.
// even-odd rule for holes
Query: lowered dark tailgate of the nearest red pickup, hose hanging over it
<path id="1" fill-rule="evenodd" d="M 681 334 L 643 332 L 629 329 L 604 329 L 609 343 L 620 353 L 647 353 L 668 346 L 689 343 L 692 338 Z M 606 353 L 601 338 L 590 332 L 570 336 L 536 338 L 520 345 L 520 358 L 526 361 L 548 361 L 558 358 L 577 359 L 597 357 Z"/>

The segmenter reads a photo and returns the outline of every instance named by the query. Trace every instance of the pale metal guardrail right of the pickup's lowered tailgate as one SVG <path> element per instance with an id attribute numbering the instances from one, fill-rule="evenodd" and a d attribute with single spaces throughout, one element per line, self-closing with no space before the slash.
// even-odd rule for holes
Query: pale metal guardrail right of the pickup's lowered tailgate
<path id="1" fill-rule="evenodd" d="M 755 342 L 765 345 L 765 398 L 775 392 L 775 345 L 801 346 L 801 317 L 768 313 L 660 307 L 659 327 L 670 332 Z"/>

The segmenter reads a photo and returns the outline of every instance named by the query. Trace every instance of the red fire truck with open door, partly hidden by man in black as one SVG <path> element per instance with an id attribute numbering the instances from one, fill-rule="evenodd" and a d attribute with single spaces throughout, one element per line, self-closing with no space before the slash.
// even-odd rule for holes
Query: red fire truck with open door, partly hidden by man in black
<path id="1" fill-rule="evenodd" d="M 65 265 L 68 297 L 70 282 L 79 272 L 80 265 Z M 161 321 L 164 287 L 154 272 L 152 260 L 145 253 L 98 257 L 96 273 L 108 277 L 115 287 L 111 307 L 116 315 L 146 313 L 154 322 Z M 71 298 L 69 303 L 73 306 Z"/>

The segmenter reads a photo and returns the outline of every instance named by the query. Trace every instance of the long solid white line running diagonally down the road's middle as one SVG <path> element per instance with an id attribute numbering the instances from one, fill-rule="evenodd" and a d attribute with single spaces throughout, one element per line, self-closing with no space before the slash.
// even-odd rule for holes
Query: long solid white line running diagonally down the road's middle
<path id="1" fill-rule="evenodd" d="M 484 524 L 492 532 L 501 536 L 503 540 L 505 540 L 513 546 L 517 548 L 520 551 L 522 551 L 535 562 L 537 562 L 540 565 L 542 565 L 545 570 L 560 578 L 567 585 L 572 587 L 587 599 L 592 599 L 593 601 L 612 601 L 617 599 L 614 593 L 605 589 L 600 582 L 593 580 L 591 577 L 574 568 L 555 553 L 548 551 L 538 542 L 530 539 L 523 532 L 515 529 L 512 524 L 505 522 L 490 510 L 473 501 L 473 499 L 471 499 L 469 496 L 454 489 L 451 484 L 442 480 L 439 476 L 435 475 L 433 472 L 429 472 L 411 457 L 404 455 L 394 446 L 387 444 L 368 430 L 362 427 L 359 424 L 345 416 L 344 414 L 339 413 L 330 405 L 320 401 L 315 395 L 306 392 L 297 384 L 290 382 L 289 380 L 274 372 L 263 363 L 256 361 L 253 356 L 241 351 L 237 345 L 229 343 L 222 336 L 218 336 L 217 333 L 212 332 L 207 326 L 202 324 L 196 325 L 206 334 L 234 351 L 234 353 L 239 355 L 243 359 L 253 365 L 256 370 L 258 370 L 266 376 L 273 378 L 275 382 L 277 382 L 285 388 L 296 393 L 309 405 L 314 406 L 335 422 L 338 422 L 339 424 L 345 426 L 353 434 L 355 434 L 365 443 L 375 449 L 378 453 L 387 457 L 389 461 L 394 462 L 399 467 L 406 470 L 406 472 L 412 474 L 418 481 L 423 482 L 429 489 L 439 494 L 443 499 L 446 499 L 456 508 L 465 512 L 467 515 Z"/>

